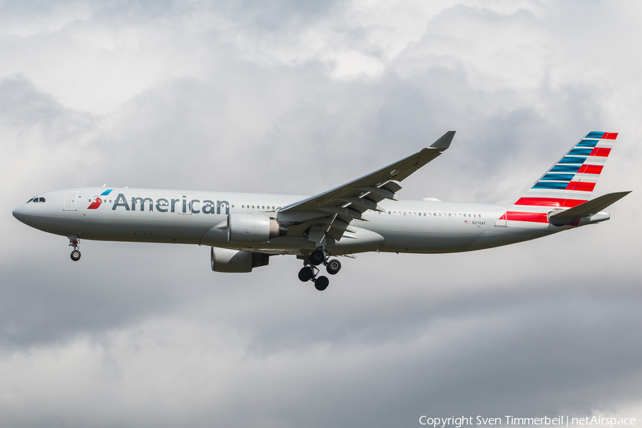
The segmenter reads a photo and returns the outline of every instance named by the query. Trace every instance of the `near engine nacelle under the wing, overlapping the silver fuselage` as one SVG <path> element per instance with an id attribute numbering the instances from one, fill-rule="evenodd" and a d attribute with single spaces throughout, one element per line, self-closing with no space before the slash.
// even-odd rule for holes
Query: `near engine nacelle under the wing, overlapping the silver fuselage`
<path id="1" fill-rule="evenodd" d="M 228 215 L 228 241 L 235 244 L 265 243 L 270 238 L 287 234 L 287 226 L 267 215 Z"/>

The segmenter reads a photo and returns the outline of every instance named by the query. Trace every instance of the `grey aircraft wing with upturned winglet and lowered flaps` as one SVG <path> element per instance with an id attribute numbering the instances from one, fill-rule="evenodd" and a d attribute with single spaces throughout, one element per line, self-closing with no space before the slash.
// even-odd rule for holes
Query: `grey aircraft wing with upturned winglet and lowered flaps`
<path id="1" fill-rule="evenodd" d="M 317 242 L 317 245 L 325 244 L 326 235 L 339 240 L 346 231 L 353 230 L 350 228 L 352 220 L 367 221 L 363 215 L 367 210 L 382 211 L 378 204 L 381 200 L 398 200 L 395 193 L 402 188 L 398 182 L 441 155 L 449 148 L 454 134 L 455 131 L 448 131 L 431 146 L 401 161 L 327 192 L 287 205 L 279 210 L 277 218 L 290 223 L 320 226 L 308 232 L 310 240 Z"/>

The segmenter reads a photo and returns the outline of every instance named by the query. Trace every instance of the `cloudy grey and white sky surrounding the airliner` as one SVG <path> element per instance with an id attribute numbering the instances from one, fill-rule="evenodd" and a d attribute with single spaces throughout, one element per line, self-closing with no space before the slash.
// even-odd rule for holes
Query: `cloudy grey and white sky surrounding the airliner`
<path id="1" fill-rule="evenodd" d="M 0 425 L 414 427 L 642 420 L 642 4 L 0 1 Z M 518 195 L 619 132 L 611 220 L 454 255 L 275 257 L 31 229 L 32 195 L 108 185 L 319 193 L 457 130 L 402 198 Z M 505 423 L 505 422 L 504 422 Z"/>

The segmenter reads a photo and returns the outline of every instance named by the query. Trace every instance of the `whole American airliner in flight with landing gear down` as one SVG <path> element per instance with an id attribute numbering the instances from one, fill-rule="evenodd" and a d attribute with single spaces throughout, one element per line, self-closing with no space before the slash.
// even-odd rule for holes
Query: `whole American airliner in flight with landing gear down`
<path id="1" fill-rule="evenodd" d="M 455 131 L 401 161 L 315 196 L 144 188 L 68 188 L 13 211 L 22 223 L 80 240 L 198 244 L 215 272 L 251 272 L 295 255 L 298 277 L 323 291 L 337 256 L 458 253 L 494 248 L 608 220 L 629 191 L 590 199 L 618 133 L 590 132 L 526 192 L 501 203 L 399 200 L 399 184 L 449 148 Z"/>

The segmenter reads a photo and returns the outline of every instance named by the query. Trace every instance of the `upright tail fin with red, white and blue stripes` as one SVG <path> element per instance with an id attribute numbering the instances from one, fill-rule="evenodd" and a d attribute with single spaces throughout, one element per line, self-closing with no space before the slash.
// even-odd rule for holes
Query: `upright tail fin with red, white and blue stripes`
<path id="1" fill-rule="evenodd" d="M 522 193 L 515 205 L 571 208 L 591 198 L 618 133 L 589 132 L 546 174 Z"/>

